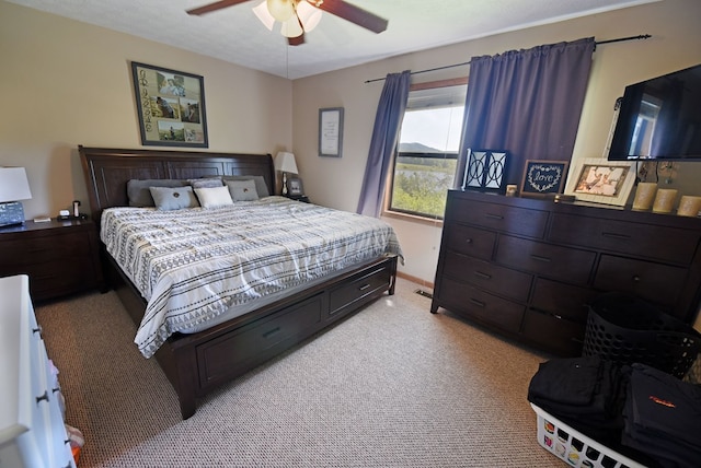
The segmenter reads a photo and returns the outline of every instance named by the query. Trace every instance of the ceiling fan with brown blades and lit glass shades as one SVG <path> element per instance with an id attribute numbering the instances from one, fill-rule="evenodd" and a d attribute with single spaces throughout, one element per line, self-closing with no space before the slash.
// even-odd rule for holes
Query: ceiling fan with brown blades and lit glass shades
<path id="1" fill-rule="evenodd" d="M 187 13 L 200 15 L 246 1 L 252 0 L 220 0 L 187 10 Z M 304 43 L 304 33 L 319 23 L 322 10 L 377 34 L 387 30 L 387 20 L 344 0 L 264 0 L 253 8 L 255 15 L 268 30 L 273 31 L 275 21 L 283 24 L 280 33 L 287 37 L 290 46 Z"/>

